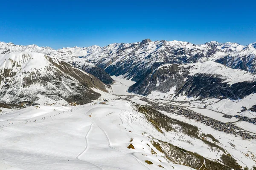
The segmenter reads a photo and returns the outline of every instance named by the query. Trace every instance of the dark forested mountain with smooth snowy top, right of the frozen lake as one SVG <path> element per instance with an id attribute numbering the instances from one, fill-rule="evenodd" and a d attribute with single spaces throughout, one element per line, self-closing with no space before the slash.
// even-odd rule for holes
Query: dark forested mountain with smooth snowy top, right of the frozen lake
<path id="1" fill-rule="evenodd" d="M 169 99 L 186 96 L 237 100 L 256 92 L 256 78 L 249 72 L 212 61 L 163 64 L 132 85 L 129 91 L 141 95 L 163 92 Z"/>

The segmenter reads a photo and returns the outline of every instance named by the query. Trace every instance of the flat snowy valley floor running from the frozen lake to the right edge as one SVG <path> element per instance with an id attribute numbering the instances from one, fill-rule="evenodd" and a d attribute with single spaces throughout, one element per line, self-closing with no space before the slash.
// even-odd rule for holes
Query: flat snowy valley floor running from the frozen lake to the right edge
<path id="1" fill-rule="evenodd" d="M 132 84 L 134 84 L 135 83 L 134 81 L 129 81 L 129 80 L 126 80 L 124 78 L 119 78 L 119 77 L 115 77 L 115 76 L 112 76 L 112 78 L 116 81 L 116 83 L 112 85 L 113 93 L 116 94 L 116 95 L 119 95 L 119 96 L 124 96 L 124 97 L 127 97 L 127 96 L 131 95 L 131 96 L 133 96 L 133 98 L 131 98 L 131 101 L 134 101 L 135 103 L 143 104 L 144 105 L 144 104 L 146 104 L 146 102 L 143 101 L 142 98 L 147 98 L 150 101 L 153 101 L 155 103 L 188 108 L 188 109 L 190 109 L 190 110 L 192 110 L 194 112 L 197 112 L 199 114 L 205 115 L 205 116 L 207 116 L 209 118 L 212 118 L 212 119 L 215 119 L 217 121 L 221 121 L 223 123 L 234 122 L 234 123 L 238 124 L 238 126 L 243 128 L 244 130 L 246 130 L 248 132 L 251 132 L 252 134 L 256 134 L 256 131 L 255 131 L 256 130 L 256 124 L 252 124 L 252 123 L 244 122 L 244 121 L 239 121 L 239 119 L 235 118 L 235 117 L 225 118 L 225 117 L 223 117 L 224 114 L 227 114 L 227 111 L 225 111 L 225 110 L 222 110 L 224 112 L 220 112 L 220 111 L 218 111 L 218 109 L 214 110 L 212 108 L 212 105 L 204 108 L 204 107 L 202 107 L 202 104 L 199 104 L 199 103 L 202 103 L 202 102 L 199 102 L 199 101 L 197 101 L 197 102 L 196 101 L 192 101 L 192 102 L 188 102 L 188 103 L 183 104 L 182 102 L 179 102 L 179 101 L 177 101 L 177 102 L 170 102 L 168 100 L 161 100 L 159 98 L 163 94 L 161 94 L 160 92 L 154 92 L 155 94 L 158 94 L 158 95 L 148 95 L 148 96 L 142 96 L 142 95 L 137 95 L 135 93 L 129 93 L 129 92 L 127 92 L 128 87 L 131 86 Z M 244 99 L 244 100 L 246 100 L 246 99 Z M 212 99 L 212 101 L 214 101 L 214 100 Z M 226 101 L 227 100 L 224 100 L 224 102 L 226 102 Z M 217 104 L 219 104 L 221 102 L 217 102 L 217 103 L 215 103 L 213 105 L 217 105 Z M 236 102 L 233 101 L 233 103 L 236 103 Z M 241 103 L 244 104 L 246 102 L 243 101 Z M 237 105 L 238 106 L 236 106 L 236 109 L 241 104 L 239 103 Z M 233 107 L 233 104 L 231 105 L 231 108 L 228 107 L 228 104 L 225 105 L 225 108 L 227 108 L 226 110 L 231 110 L 231 109 L 233 109 L 232 107 Z M 247 112 L 249 112 L 249 111 L 247 111 Z M 249 113 L 247 113 L 247 114 L 249 114 Z M 250 116 L 252 116 L 252 115 L 250 115 Z M 252 116 L 252 118 L 256 118 L 256 116 Z M 239 123 L 237 123 L 237 122 L 239 122 Z"/>

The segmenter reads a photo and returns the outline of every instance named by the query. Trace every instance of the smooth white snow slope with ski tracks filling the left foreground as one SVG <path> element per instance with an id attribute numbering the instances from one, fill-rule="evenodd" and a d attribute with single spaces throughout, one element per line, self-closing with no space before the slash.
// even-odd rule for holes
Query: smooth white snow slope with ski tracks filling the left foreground
<path id="1" fill-rule="evenodd" d="M 142 133 L 155 130 L 128 101 L 28 107 L 1 115 L 0 123 L 0 169 L 192 169 L 169 164 L 156 149 L 151 154 Z"/>

